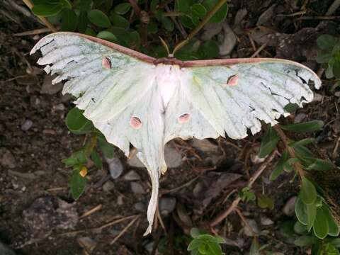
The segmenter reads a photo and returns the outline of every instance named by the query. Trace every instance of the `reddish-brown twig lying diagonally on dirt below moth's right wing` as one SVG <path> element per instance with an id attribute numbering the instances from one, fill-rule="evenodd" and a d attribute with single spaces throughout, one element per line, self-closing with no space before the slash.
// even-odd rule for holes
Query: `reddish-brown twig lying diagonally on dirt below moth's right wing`
<path id="1" fill-rule="evenodd" d="M 256 170 L 256 172 L 251 176 L 251 178 L 248 181 L 247 186 L 251 188 L 251 186 L 254 184 L 256 179 L 259 178 L 259 176 L 263 173 L 263 171 L 267 168 L 268 164 L 271 163 L 276 156 L 276 150 L 271 152 L 271 154 L 266 158 L 266 160 L 259 166 L 259 168 Z M 241 201 L 241 198 L 238 196 L 235 198 L 235 200 L 232 202 L 232 205 L 225 210 L 225 212 L 222 212 L 220 215 L 217 215 L 211 222 L 210 222 L 210 227 L 215 227 L 218 225 L 222 220 L 225 220 L 225 218 L 237 208 L 237 205 L 239 205 L 239 202 Z"/>

